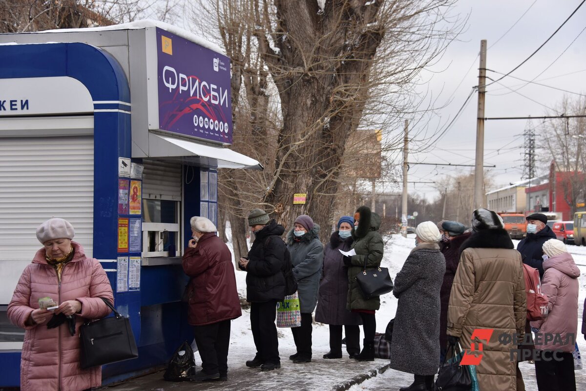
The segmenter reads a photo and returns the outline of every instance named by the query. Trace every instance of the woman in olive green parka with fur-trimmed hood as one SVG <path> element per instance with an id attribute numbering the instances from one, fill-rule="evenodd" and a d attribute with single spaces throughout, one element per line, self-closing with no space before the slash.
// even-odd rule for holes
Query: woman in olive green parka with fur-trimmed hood
<path id="1" fill-rule="evenodd" d="M 354 214 L 354 242 L 351 249 L 356 255 L 345 256 L 344 263 L 348 267 L 348 301 L 347 308 L 360 314 L 364 329 L 362 352 L 355 356 L 357 361 L 374 361 L 374 332 L 376 331 L 375 311 L 380 308 L 378 296 L 365 299 L 356 282 L 358 273 L 364 270 L 376 269 L 383 259 L 383 238 L 380 236 L 380 216 L 370 211 L 369 207 L 362 206 Z"/>

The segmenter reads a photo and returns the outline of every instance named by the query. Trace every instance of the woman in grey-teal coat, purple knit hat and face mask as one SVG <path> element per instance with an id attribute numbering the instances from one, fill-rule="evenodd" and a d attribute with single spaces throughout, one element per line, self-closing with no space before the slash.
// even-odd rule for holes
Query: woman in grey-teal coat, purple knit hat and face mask
<path id="1" fill-rule="evenodd" d="M 287 234 L 287 248 L 291 253 L 293 276 L 297 280 L 301 327 L 292 327 L 297 353 L 289 356 L 294 363 L 311 362 L 312 312 L 318 301 L 319 278 L 323 265 L 323 245 L 319 241 L 319 225 L 308 215 L 295 219 L 294 228 Z"/>

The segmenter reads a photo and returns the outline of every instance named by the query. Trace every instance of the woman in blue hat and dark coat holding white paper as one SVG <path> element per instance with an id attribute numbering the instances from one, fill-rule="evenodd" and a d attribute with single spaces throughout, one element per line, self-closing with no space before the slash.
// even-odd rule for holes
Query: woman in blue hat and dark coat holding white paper
<path id="1" fill-rule="evenodd" d="M 323 273 L 319 283 L 318 308 L 315 321 L 329 324 L 330 351 L 323 358 L 342 358 L 342 325 L 346 330 L 346 351 L 350 358 L 360 353 L 360 315 L 346 308 L 348 296 L 348 272 L 343 263 L 342 251 L 352 245 L 351 235 L 354 218 L 343 216 L 323 248 Z"/>

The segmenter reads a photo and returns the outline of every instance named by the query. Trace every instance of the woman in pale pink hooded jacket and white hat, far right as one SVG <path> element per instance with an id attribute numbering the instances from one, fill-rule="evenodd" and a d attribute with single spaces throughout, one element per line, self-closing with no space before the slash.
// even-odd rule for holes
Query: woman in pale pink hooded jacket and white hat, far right
<path id="1" fill-rule="evenodd" d="M 531 323 L 535 334 L 535 374 L 540 391 L 576 389 L 574 377 L 575 338 L 578 332 L 578 277 L 580 269 L 563 242 L 549 239 L 543 243 L 547 259 L 543 262 L 541 292 L 549 300 L 547 318 Z"/>

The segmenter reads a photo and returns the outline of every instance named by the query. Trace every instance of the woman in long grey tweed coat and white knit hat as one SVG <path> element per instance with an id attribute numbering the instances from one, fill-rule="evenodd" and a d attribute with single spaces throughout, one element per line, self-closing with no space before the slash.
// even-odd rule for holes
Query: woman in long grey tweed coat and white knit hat
<path id="1" fill-rule="evenodd" d="M 399 301 L 390 365 L 415 375 L 413 384 L 400 391 L 433 390 L 440 361 L 440 289 L 445 273 L 445 258 L 438 245 L 441 235 L 431 221 L 418 225 L 415 234 L 415 248 L 393 288 Z"/>

